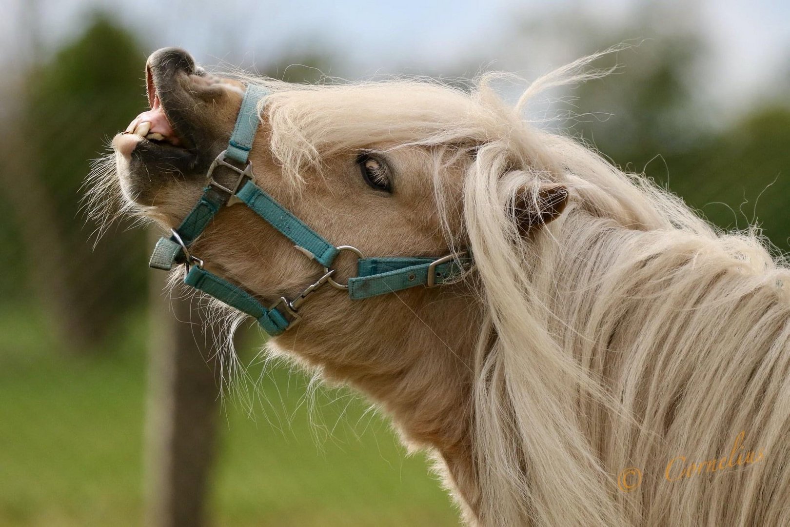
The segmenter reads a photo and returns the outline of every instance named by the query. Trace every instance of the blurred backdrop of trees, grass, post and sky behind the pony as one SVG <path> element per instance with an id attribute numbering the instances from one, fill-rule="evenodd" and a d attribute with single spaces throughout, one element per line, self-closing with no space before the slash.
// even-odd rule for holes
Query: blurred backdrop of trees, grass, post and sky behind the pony
<path id="1" fill-rule="evenodd" d="M 532 116 L 572 112 L 570 134 L 779 254 L 788 20 L 781 0 L 0 0 L 0 525 L 457 525 L 423 455 L 353 393 L 264 363 L 257 330 L 236 337 L 250 390 L 220 398 L 216 328 L 161 294 L 150 233 L 96 242 L 81 185 L 145 109 L 151 51 L 292 82 L 532 79 L 630 43 Z"/>

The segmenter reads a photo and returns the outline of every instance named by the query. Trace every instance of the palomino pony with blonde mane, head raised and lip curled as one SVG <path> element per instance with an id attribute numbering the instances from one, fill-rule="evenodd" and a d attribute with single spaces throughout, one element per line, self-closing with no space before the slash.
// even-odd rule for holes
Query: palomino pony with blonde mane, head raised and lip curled
<path id="1" fill-rule="evenodd" d="M 322 288 L 267 344 L 431 452 L 469 525 L 790 525 L 790 269 L 756 230 L 722 232 L 523 117 L 600 76 L 597 56 L 509 105 L 494 75 L 291 85 L 165 48 L 89 199 L 174 228 L 245 88 L 265 88 L 250 177 L 276 201 L 362 254 L 472 254 L 441 288 Z M 243 206 L 190 251 L 266 305 L 324 274 Z M 355 255 L 333 269 L 355 276 Z"/>

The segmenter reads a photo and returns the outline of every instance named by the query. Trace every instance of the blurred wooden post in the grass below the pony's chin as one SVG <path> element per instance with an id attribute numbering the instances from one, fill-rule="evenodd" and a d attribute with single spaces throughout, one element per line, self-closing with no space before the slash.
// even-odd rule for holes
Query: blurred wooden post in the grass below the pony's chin
<path id="1" fill-rule="evenodd" d="M 149 292 L 145 525 L 200 527 L 208 523 L 219 382 L 197 300 L 165 294 L 165 274 L 151 273 Z"/>

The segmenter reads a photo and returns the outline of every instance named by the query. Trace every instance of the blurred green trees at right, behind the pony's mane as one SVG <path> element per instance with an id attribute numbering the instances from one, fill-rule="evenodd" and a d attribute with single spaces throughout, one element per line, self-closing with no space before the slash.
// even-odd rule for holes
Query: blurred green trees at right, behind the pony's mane
<path id="1" fill-rule="evenodd" d="M 695 72 L 705 61 L 705 47 L 694 28 L 657 27 L 652 13 L 645 9 L 634 25 L 619 31 L 619 40 L 647 37 L 639 47 L 596 64 L 617 64 L 618 74 L 574 92 L 583 116 L 574 129 L 615 164 L 644 171 L 720 227 L 759 224 L 774 245 L 790 249 L 790 217 L 784 212 L 790 100 L 765 104 L 724 126 L 706 124 L 725 112 L 706 107 L 700 95 L 704 79 Z M 580 27 L 588 28 L 578 37 L 586 52 L 618 41 L 611 31 L 602 36 L 594 24 Z M 596 112 L 611 115 L 600 119 Z"/>

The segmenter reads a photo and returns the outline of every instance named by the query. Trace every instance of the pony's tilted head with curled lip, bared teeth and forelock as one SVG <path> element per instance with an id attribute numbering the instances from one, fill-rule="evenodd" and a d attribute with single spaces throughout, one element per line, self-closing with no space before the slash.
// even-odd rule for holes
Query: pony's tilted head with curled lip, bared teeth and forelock
<path id="1" fill-rule="evenodd" d="M 484 90 L 470 96 L 425 81 L 295 86 L 217 77 L 175 48 L 151 55 L 145 72 L 151 109 L 113 139 L 117 176 L 106 179 L 115 180 L 126 207 L 164 228 L 176 227 L 197 201 L 249 83 L 269 91 L 250 152 L 254 183 L 337 247 L 437 258 L 471 249 L 464 217 L 470 171 L 498 186 L 498 208 L 514 241 L 559 216 L 569 199 L 562 169 L 524 148 L 524 123 Z M 191 251 L 264 303 L 294 298 L 322 273 L 243 206 L 224 208 Z M 338 283 L 353 276 L 356 258 L 352 251 L 340 255 Z M 299 334 L 340 332 L 357 340 L 371 329 L 395 328 L 391 317 L 404 300 L 413 306 L 450 290 L 470 292 L 467 280 L 458 281 L 374 302 L 352 302 L 327 288 L 322 301 L 304 307 Z M 328 359 L 337 354 L 325 352 Z M 359 356 L 370 361 L 367 353 Z"/>

